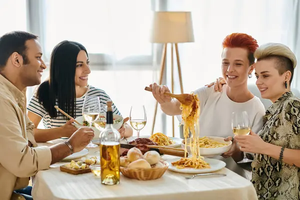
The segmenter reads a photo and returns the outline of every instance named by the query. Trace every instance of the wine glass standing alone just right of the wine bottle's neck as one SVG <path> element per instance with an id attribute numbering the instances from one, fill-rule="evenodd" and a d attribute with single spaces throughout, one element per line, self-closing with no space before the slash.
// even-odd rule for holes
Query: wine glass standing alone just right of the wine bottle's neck
<path id="1" fill-rule="evenodd" d="M 129 121 L 131 126 L 137 131 L 137 138 L 139 138 L 139 131 L 145 127 L 147 122 L 147 114 L 144 105 L 131 106 Z"/>

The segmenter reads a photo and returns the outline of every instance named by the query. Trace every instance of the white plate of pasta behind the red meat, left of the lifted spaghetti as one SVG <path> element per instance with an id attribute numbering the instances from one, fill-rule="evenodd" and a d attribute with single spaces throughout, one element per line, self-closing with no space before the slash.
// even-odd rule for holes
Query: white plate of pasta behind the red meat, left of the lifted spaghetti
<path id="1" fill-rule="evenodd" d="M 168 137 L 161 132 L 156 132 L 152 135 L 141 135 L 140 138 L 149 138 L 151 141 L 156 142 L 159 146 L 176 147 L 180 146 L 182 139 L 178 137 Z M 136 139 L 136 136 L 127 138 L 128 141 Z"/>

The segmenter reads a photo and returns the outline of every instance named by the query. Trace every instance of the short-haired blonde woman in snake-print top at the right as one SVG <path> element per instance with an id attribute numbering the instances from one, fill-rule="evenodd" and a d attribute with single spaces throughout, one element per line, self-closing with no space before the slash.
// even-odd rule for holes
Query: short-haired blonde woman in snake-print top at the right
<path id="1" fill-rule="evenodd" d="M 240 150 L 252 152 L 252 182 L 258 199 L 300 199 L 300 99 L 290 91 L 296 67 L 294 53 L 280 43 L 267 43 L 254 53 L 256 85 L 272 105 L 255 134 L 237 135 Z M 216 82 L 216 87 L 218 84 Z M 216 88 L 217 90 L 217 88 Z"/>

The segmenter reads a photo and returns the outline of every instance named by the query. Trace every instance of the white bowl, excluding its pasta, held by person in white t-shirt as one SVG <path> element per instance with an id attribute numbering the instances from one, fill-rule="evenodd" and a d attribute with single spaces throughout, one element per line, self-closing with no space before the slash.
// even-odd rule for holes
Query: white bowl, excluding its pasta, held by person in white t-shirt
<path id="1" fill-rule="evenodd" d="M 220 155 L 220 154 L 222 154 L 224 152 L 227 152 L 231 148 L 232 141 L 224 141 L 223 137 L 214 137 L 214 136 L 207 136 L 207 137 L 210 138 L 210 139 L 213 139 L 215 141 L 228 144 L 228 145 L 222 146 L 222 147 L 217 147 L 217 148 L 199 148 L 201 156 L 215 156 L 215 155 Z M 187 138 L 187 143 L 188 142 L 189 142 L 189 138 Z M 184 143 L 183 143 L 183 141 L 181 142 L 181 148 L 184 149 Z M 188 152 L 191 152 L 190 151 L 190 146 L 187 145 L 186 148 L 187 148 Z"/>

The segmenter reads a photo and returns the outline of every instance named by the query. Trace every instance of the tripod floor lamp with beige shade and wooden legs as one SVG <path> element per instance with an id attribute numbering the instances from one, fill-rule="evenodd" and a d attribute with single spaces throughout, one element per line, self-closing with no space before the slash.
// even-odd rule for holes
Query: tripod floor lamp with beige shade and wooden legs
<path id="1" fill-rule="evenodd" d="M 163 72 L 165 71 L 165 59 L 167 43 L 171 46 L 171 92 L 174 92 L 174 78 L 173 78 L 173 46 L 175 47 L 178 75 L 180 82 L 180 90 L 183 93 L 181 67 L 178 53 L 178 43 L 193 42 L 193 28 L 190 12 L 174 12 L 174 11 L 158 11 L 154 12 L 152 31 L 150 41 L 152 43 L 163 43 L 161 63 L 160 63 L 160 76 L 159 84 L 162 83 Z M 155 118 L 157 112 L 157 101 L 155 103 L 152 132 L 154 131 Z M 172 116 L 172 135 L 174 136 L 174 116 Z"/>

